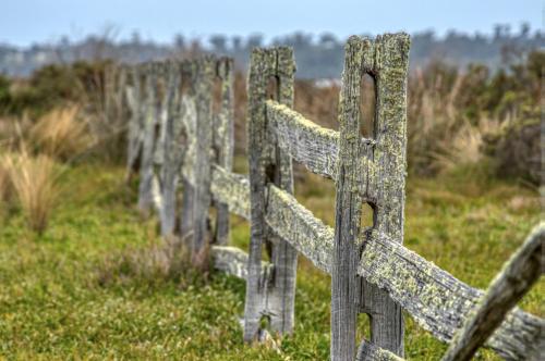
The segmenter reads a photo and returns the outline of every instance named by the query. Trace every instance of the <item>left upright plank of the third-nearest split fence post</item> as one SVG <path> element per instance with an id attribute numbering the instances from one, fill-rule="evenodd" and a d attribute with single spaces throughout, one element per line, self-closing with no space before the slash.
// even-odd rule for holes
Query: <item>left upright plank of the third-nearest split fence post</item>
<path id="1" fill-rule="evenodd" d="M 210 57 L 196 64 L 196 77 L 192 84 L 196 105 L 196 149 L 194 167 L 193 223 L 191 241 L 192 262 L 202 266 L 206 261 L 208 239 L 208 208 L 210 207 L 210 151 L 213 145 L 211 89 L 215 61 Z"/>

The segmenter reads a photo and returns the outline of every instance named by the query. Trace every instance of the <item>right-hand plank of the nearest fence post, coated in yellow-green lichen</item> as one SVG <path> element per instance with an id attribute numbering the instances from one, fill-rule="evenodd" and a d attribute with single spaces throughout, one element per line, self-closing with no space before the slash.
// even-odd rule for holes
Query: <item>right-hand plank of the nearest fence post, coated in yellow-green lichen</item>
<path id="1" fill-rule="evenodd" d="M 374 57 L 364 60 L 364 71 L 375 79 L 377 97 L 374 124 L 377 144 L 373 157 L 374 174 L 380 182 L 367 188 L 376 187 L 368 191 L 377 195 L 372 200 L 374 227 L 398 242 L 403 241 L 409 48 L 407 34 L 386 34 L 374 41 Z M 386 291 L 365 281 L 362 291 L 362 310 L 371 315 L 371 341 L 402 357 L 401 307 Z"/>

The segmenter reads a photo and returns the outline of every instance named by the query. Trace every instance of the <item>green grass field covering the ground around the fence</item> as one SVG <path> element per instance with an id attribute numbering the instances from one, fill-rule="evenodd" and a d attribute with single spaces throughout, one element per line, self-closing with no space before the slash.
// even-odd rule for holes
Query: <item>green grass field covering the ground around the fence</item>
<path id="1" fill-rule="evenodd" d="M 476 287 L 485 288 L 540 217 L 536 194 L 516 184 L 459 172 L 410 177 L 405 245 Z M 317 360 L 329 352 L 329 277 L 300 261 L 295 331 L 278 347 L 242 343 L 244 284 L 221 274 L 167 276 L 135 272 L 126 254 L 157 245 L 157 225 L 135 211 L 123 171 L 78 165 L 43 237 L 24 217 L 0 221 L 0 354 L 5 359 Z M 331 183 L 300 177 L 296 196 L 332 224 Z M 1 214 L 1 213 L 0 213 Z M 233 217 L 233 244 L 249 242 Z M 144 269 L 146 265 L 143 264 Z M 106 279 L 106 281 L 105 281 Z M 541 281 L 521 307 L 544 315 Z M 409 359 L 437 360 L 445 345 L 407 318 Z M 366 320 L 362 316 L 361 334 Z M 482 351 L 480 360 L 497 359 Z"/>

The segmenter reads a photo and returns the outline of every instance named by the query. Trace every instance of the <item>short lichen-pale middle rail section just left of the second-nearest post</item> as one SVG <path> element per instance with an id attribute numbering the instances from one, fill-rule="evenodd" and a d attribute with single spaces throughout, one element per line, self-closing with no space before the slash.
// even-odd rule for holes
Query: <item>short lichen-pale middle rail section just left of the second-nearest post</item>
<path id="1" fill-rule="evenodd" d="M 246 176 L 213 165 L 210 191 L 230 212 L 250 220 L 250 182 Z"/>

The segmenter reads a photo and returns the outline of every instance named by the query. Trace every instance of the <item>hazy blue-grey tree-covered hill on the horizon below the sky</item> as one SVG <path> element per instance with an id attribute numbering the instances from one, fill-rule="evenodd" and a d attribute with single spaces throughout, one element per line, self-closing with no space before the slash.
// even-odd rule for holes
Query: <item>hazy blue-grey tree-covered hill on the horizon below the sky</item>
<path id="1" fill-rule="evenodd" d="M 70 63 L 77 60 L 111 58 L 121 62 L 142 62 L 168 57 L 191 57 L 215 52 L 233 57 L 244 69 L 253 47 L 287 45 L 295 50 L 298 77 L 337 78 L 342 71 L 344 39 L 331 34 L 312 36 L 294 33 L 265 43 L 261 35 L 226 37 L 215 35 L 202 39 L 177 36 L 172 43 L 142 41 L 137 34 L 130 40 L 113 41 L 108 36 L 89 36 L 78 42 L 68 38 L 52 45 L 34 45 L 17 48 L 0 45 L 0 73 L 10 76 L 28 76 L 34 70 L 50 63 Z M 412 35 L 411 69 L 424 66 L 433 60 L 443 60 L 453 66 L 482 63 L 498 69 L 524 55 L 530 50 L 545 49 L 545 33 L 531 30 L 523 24 L 516 34 L 507 25 L 497 25 L 492 35 L 468 35 L 450 32 L 444 37 L 433 32 Z"/>

